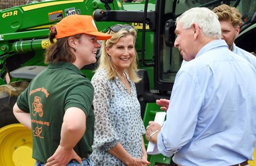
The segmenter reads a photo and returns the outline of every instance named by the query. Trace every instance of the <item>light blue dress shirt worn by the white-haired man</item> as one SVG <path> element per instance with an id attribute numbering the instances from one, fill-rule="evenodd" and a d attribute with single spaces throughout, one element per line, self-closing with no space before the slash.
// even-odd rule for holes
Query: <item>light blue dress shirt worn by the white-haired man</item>
<path id="1" fill-rule="evenodd" d="M 224 40 L 205 45 L 174 82 L 158 151 L 179 165 L 233 165 L 256 145 L 256 70 Z"/>

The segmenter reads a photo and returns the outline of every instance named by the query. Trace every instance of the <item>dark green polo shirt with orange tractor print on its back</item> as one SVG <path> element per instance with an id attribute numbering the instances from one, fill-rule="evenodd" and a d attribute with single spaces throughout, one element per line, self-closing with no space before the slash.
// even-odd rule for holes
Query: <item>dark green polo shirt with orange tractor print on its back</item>
<path id="1" fill-rule="evenodd" d="M 63 116 L 70 107 L 80 108 L 86 115 L 85 134 L 74 150 L 81 158 L 92 153 L 93 93 L 90 81 L 71 63 L 50 63 L 30 82 L 17 104 L 22 111 L 30 112 L 34 159 L 46 163 L 55 152 L 60 144 Z"/>

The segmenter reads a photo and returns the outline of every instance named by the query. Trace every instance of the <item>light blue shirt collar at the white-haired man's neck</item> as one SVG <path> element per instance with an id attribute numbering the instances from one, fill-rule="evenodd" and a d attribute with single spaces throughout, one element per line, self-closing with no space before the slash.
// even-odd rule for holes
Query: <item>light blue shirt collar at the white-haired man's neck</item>
<path id="1" fill-rule="evenodd" d="M 196 58 L 201 56 L 202 54 L 206 53 L 207 51 L 209 51 L 213 48 L 216 48 L 216 47 L 227 47 L 228 48 L 228 45 L 227 45 L 226 41 L 222 40 L 222 39 L 211 41 L 199 50 L 199 52 L 196 54 Z"/>

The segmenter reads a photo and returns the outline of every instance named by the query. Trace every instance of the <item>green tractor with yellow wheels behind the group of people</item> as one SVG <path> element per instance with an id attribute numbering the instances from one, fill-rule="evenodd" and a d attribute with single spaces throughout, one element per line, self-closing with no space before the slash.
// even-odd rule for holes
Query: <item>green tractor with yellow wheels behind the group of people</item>
<path id="1" fill-rule="evenodd" d="M 138 29 L 136 49 L 139 74 L 137 86 L 141 117 L 145 126 L 161 111 L 155 104 L 159 98 L 170 98 L 174 78 L 182 57 L 173 47 L 175 19 L 191 7 L 212 9 L 220 4 L 235 6 L 244 24 L 236 45 L 256 51 L 255 0 L 145 0 L 123 3 L 121 0 L 52 0 L 0 10 L 0 165 L 34 165 L 31 131 L 14 118 L 12 107 L 29 81 L 45 68 L 44 52 L 50 45 L 49 27 L 70 14 L 93 15 L 100 31 L 111 25 L 132 24 Z M 72 25 L 70 25 L 72 26 Z M 100 56 L 100 55 L 99 55 Z M 91 78 L 95 65 L 82 72 Z M 145 140 L 146 141 L 146 140 Z M 147 146 L 147 141 L 145 142 Z M 254 152 L 256 158 L 256 152 Z M 151 165 L 170 165 L 171 158 L 149 155 Z M 256 161 L 249 161 L 256 165 Z"/>

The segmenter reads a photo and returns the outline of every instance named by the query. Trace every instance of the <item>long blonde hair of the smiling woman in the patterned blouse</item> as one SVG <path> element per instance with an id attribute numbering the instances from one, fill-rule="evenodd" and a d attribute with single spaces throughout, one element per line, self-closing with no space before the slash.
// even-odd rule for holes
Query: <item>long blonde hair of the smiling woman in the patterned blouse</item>
<path id="1" fill-rule="evenodd" d="M 109 58 L 109 55 L 106 51 L 106 48 L 111 48 L 121 37 L 125 37 L 128 34 L 131 34 L 134 37 L 134 45 L 135 45 L 135 39 L 137 36 L 137 31 L 135 29 L 130 29 L 129 31 L 126 29 L 121 29 L 118 32 L 110 32 L 111 38 L 105 41 L 102 41 L 102 45 L 100 48 L 100 60 L 99 60 L 99 66 L 96 71 L 98 71 L 101 68 L 105 68 L 107 72 L 107 76 L 109 80 L 113 80 L 116 76 L 121 77 L 119 73 L 116 71 L 115 67 L 113 66 L 111 59 Z M 134 47 L 134 58 L 132 60 L 131 65 L 126 69 L 126 72 L 128 73 L 129 77 L 133 82 L 139 82 L 141 78 L 138 76 L 137 71 L 137 59 L 138 55 Z"/>

